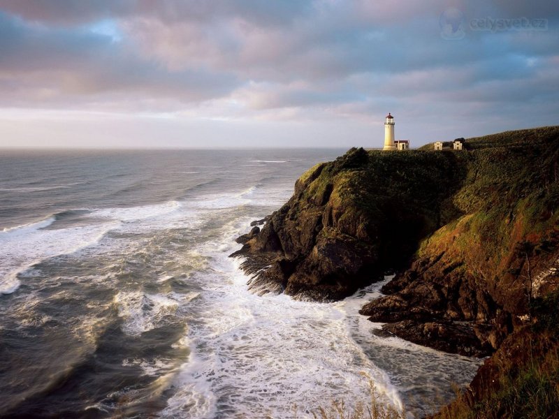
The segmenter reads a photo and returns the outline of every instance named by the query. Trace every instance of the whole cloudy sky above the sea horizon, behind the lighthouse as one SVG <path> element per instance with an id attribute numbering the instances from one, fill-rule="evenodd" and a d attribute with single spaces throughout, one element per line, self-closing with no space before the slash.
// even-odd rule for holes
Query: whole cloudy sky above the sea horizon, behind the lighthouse
<path id="1" fill-rule="evenodd" d="M 559 124 L 551 0 L 0 0 L 0 147 L 412 147 Z"/>

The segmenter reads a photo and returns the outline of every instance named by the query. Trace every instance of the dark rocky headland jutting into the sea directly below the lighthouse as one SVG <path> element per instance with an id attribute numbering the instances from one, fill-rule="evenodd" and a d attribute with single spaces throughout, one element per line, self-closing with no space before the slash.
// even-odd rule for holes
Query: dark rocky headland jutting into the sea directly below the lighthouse
<path id="1" fill-rule="evenodd" d="M 463 159 L 463 157 L 462 157 Z M 423 237 L 458 214 L 460 156 L 351 149 L 308 170 L 261 231 L 240 237 L 259 293 L 337 300 L 407 266 Z"/>

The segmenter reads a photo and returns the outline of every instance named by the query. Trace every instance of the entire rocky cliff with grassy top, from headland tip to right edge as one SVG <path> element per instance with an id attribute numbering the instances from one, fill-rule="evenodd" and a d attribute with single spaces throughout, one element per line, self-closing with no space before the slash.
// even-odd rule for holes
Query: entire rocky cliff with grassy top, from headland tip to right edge
<path id="1" fill-rule="evenodd" d="M 533 307 L 558 288 L 558 210 L 557 126 L 470 138 L 461 152 L 351 149 L 300 177 L 233 256 L 254 291 L 314 300 L 395 272 L 361 314 L 383 333 L 483 356 L 532 330 Z M 477 380 L 470 404 L 488 394 Z"/>

